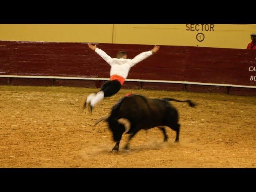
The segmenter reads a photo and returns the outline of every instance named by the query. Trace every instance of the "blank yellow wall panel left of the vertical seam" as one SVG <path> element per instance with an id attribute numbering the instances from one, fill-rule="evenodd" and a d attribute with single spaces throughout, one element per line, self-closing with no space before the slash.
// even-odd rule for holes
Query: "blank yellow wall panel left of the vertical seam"
<path id="1" fill-rule="evenodd" d="M 0 24 L 0 40 L 112 42 L 112 24 Z"/>

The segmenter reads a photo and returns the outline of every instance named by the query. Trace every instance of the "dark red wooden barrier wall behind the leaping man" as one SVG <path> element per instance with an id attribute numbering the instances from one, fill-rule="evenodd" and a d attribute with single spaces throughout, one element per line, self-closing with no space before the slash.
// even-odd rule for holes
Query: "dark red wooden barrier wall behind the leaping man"
<path id="1" fill-rule="evenodd" d="M 125 50 L 128 58 L 133 58 L 143 51 L 150 50 L 152 45 L 132 44 L 98 44 L 111 57 L 119 50 Z M 160 51 L 132 67 L 128 79 L 168 80 L 182 82 L 201 82 L 212 84 L 232 84 L 256 86 L 251 76 L 256 72 L 249 71 L 256 67 L 256 51 L 227 48 L 205 48 L 190 46 L 161 46 Z M 18 76 L 64 76 L 109 78 L 110 66 L 90 50 L 87 44 L 57 42 L 13 42 L 0 41 L 0 75 Z M 19 84 L 23 78 L 3 79 L 6 82 Z M 256 78 L 255 78 L 256 79 Z M 36 79 L 34 79 L 36 81 Z M 78 86 L 90 85 L 82 80 L 40 80 L 42 85 L 54 84 Z M 28 82 L 28 80 L 27 80 Z M 32 80 L 30 80 L 32 82 Z M 97 87 L 103 82 L 98 82 Z M 26 84 L 26 83 L 23 83 Z M 27 83 L 30 84 L 30 83 Z M 35 82 L 32 83 L 36 84 Z M 233 92 L 234 94 L 250 92 L 256 95 L 256 88 L 239 88 L 232 86 L 197 86 L 182 83 L 126 82 L 127 88 L 153 88 L 166 90 L 188 90 L 200 92 Z"/>

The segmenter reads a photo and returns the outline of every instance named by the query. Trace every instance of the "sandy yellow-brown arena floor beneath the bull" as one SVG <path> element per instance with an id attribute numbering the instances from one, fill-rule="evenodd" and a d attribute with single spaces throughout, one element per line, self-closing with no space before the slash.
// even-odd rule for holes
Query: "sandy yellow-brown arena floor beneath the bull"
<path id="1" fill-rule="evenodd" d="M 0 167 L 90 168 L 215 168 L 256 166 L 256 97 L 155 90 L 121 90 L 94 108 L 79 113 L 83 96 L 98 89 L 0 86 Z M 130 150 L 120 152 L 110 130 L 94 122 L 108 114 L 126 93 L 151 98 L 192 99 L 198 104 L 172 102 L 180 114 L 180 144 L 167 128 L 163 143 L 158 128 L 141 130 Z"/>

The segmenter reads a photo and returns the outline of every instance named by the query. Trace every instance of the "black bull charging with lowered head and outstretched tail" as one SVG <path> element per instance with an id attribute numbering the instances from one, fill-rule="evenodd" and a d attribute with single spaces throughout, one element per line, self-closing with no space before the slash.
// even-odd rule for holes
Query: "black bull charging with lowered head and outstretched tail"
<path id="1" fill-rule="evenodd" d="M 179 142 L 180 124 L 178 112 L 169 101 L 188 102 L 191 107 L 195 104 L 191 100 L 180 101 L 173 98 L 150 99 L 141 95 L 131 95 L 122 98 L 112 107 L 110 116 L 103 116 L 95 123 L 108 122 L 116 145 L 112 150 L 118 151 L 122 134 L 130 134 L 125 149 L 131 138 L 141 129 L 148 130 L 158 127 L 164 134 L 164 141 L 168 140 L 164 126 L 176 131 L 175 142 Z"/>

